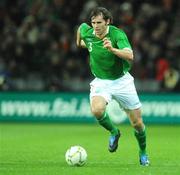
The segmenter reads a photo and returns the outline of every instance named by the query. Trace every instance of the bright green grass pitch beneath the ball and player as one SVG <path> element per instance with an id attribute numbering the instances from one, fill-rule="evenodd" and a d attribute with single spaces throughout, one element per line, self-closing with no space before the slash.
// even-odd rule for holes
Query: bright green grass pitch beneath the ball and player
<path id="1" fill-rule="evenodd" d="M 141 167 L 133 129 L 119 125 L 116 153 L 107 150 L 109 134 L 98 124 L 0 124 L 0 175 L 179 175 L 180 126 L 147 126 L 151 166 Z M 87 164 L 70 167 L 65 152 L 83 146 Z"/>

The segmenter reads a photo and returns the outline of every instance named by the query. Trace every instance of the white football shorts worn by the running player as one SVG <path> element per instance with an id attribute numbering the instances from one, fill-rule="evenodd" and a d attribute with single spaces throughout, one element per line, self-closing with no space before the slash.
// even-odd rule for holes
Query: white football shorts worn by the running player
<path id="1" fill-rule="evenodd" d="M 116 100 L 123 109 L 138 109 L 141 102 L 134 85 L 134 78 L 126 73 L 116 80 L 95 78 L 90 83 L 90 101 L 94 96 L 102 96 L 107 103 Z"/>

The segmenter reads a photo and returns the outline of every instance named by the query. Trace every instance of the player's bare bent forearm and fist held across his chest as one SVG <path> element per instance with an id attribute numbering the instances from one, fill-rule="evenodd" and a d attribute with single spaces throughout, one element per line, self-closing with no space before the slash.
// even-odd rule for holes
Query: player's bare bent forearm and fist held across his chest
<path id="1" fill-rule="evenodd" d="M 114 48 L 111 44 L 111 41 L 107 38 L 104 38 L 103 41 L 104 47 L 107 48 L 110 52 L 112 52 L 120 58 L 126 59 L 128 61 L 133 61 L 134 55 L 132 49 L 128 47 L 123 49 Z"/>

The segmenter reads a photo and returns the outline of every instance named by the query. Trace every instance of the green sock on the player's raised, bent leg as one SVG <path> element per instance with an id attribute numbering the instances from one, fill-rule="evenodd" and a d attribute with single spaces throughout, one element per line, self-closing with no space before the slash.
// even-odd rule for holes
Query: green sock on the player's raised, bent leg
<path id="1" fill-rule="evenodd" d="M 109 115 L 105 112 L 104 115 L 98 120 L 99 124 L 106 130 L 110 131 L 112 135 L 118 134 L 118 129 L 114 126 L 109 118 Z"/>

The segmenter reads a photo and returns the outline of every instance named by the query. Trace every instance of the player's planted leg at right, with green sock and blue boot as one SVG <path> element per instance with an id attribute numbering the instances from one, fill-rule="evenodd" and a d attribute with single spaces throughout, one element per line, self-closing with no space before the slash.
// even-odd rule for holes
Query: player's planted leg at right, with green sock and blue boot
<path id="1" fill-rule="evenodd" d="M 134 110 L 128 110 L 126 111 L 131 125 L 134 127 L 134 135 L 138 141 L 139 144 L 139 160 L 140 164 L 143 166 L 149 165 L 148 156 L 146 153 L 146 132 L 145 132 L 145 125 L 143 123 L 142 117 L 141 117 L 141 109 L 134 109 Z"/>

